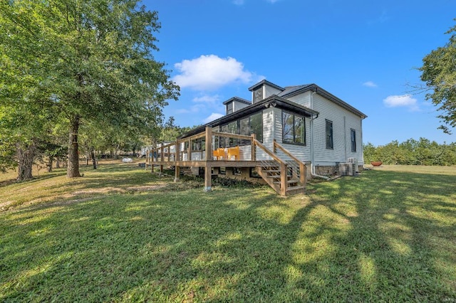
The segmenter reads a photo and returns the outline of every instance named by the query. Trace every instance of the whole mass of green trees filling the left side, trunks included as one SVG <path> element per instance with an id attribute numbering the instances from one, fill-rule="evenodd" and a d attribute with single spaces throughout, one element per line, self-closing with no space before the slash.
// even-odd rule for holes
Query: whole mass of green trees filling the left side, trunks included
<path id="1" fill-rule="evenodd" d="M 83 154 L 160 139 L 180 89 L 159 29 L 138 0 L 0 1 L 0 171 L 63 158 L 73 178 Z"/>

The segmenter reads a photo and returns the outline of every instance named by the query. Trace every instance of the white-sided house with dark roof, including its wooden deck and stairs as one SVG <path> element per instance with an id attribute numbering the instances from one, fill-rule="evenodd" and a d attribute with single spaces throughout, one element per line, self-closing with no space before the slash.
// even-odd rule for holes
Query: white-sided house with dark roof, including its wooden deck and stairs
<path id="1" fill-rule="evenodd" d="M 223 102 L 226 115 L 177 139 L 174 156 L 160 157 L 160 166 L 177 166 L 176 178 L 181 166 L 204 170 L 206 190 L 212 175 L 226 174 L 261 178 L 283 196 L 303 191 L 313 176 L 363 166 L 363 112 L 315 84 L 262 80 L 249 91 L 252 102 Z"/>

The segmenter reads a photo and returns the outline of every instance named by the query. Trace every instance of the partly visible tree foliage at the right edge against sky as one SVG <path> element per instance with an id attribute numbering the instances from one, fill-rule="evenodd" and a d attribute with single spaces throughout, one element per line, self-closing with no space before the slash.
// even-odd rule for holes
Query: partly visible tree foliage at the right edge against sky
<path id="1" fill-rule="evenodd" d="M 437 110 L 442 112 L 437 116 L 443 122 L 439 129 L 451 134 L 450 127 L 456 127 L 456 26 L 447 34 L 451 35 L 450 40 L 426 55 L 419 70 L 421 80 L 430 90 L 426 99 L 432 100 Z"/>

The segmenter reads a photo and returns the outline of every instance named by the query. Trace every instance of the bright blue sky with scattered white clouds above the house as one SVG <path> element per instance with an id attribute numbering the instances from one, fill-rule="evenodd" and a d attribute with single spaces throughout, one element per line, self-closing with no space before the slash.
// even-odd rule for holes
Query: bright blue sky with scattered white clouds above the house
<path id="1" fill-rule="evenodd" d="M 172 80 L 181 87 L 166 117 L 181 127 L 223 115 L 222 102 L 251 100 L 266 79 L 281 87 L 316 83 L 368 117 L 363 142 L 456 134 L 437 127 L 439 113 L 422 85 L 422 59 L 444 46 L 456 1 L 143 0 L 158 11 L 156 34 Z M 456 133 L 456 129 L 453 129 Z"/>

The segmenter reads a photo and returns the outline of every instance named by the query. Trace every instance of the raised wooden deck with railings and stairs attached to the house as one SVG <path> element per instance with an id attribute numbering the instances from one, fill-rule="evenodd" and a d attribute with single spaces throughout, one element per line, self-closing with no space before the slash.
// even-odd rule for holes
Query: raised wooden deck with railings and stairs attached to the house
<path id="1" fill-rule="evenodd" d="M 244 153 L 240 152 L 239 144 L 226 148 L 213 148 L 212 141 L 215 137 L 218 142 L 222 138 L 227 140 L 224 142 L 243 142 L 241 148 Z M 204 139 L 204 149 L 199 146 L 199 150 L 192 151 L 198 139 L 200 139 L 199 144 Z M 276 154 L 277 149 L 280 149 L 287 159 L 281 159 Z M 271 151 L 259 142 L 254 134 L 244 136 L 213 132 L 211 127 L 206 127 L 205 132 L 201 134 L 178 139 L 176 142 L 147 152 L 146 163 L 152 166 L 152 171 L 154 166 L 160 166 L 160 172 L 163 171 L 164 166 L 175 166 L 175 181 L 179 179 L 182 167 L 203 167 L 204 191 L 212 190 L 212 168 L 214 167 L 255 167 L 259 176 L 281 196 L 304 193 L 306 188 L 306 164 L 275 140 Z"/>

